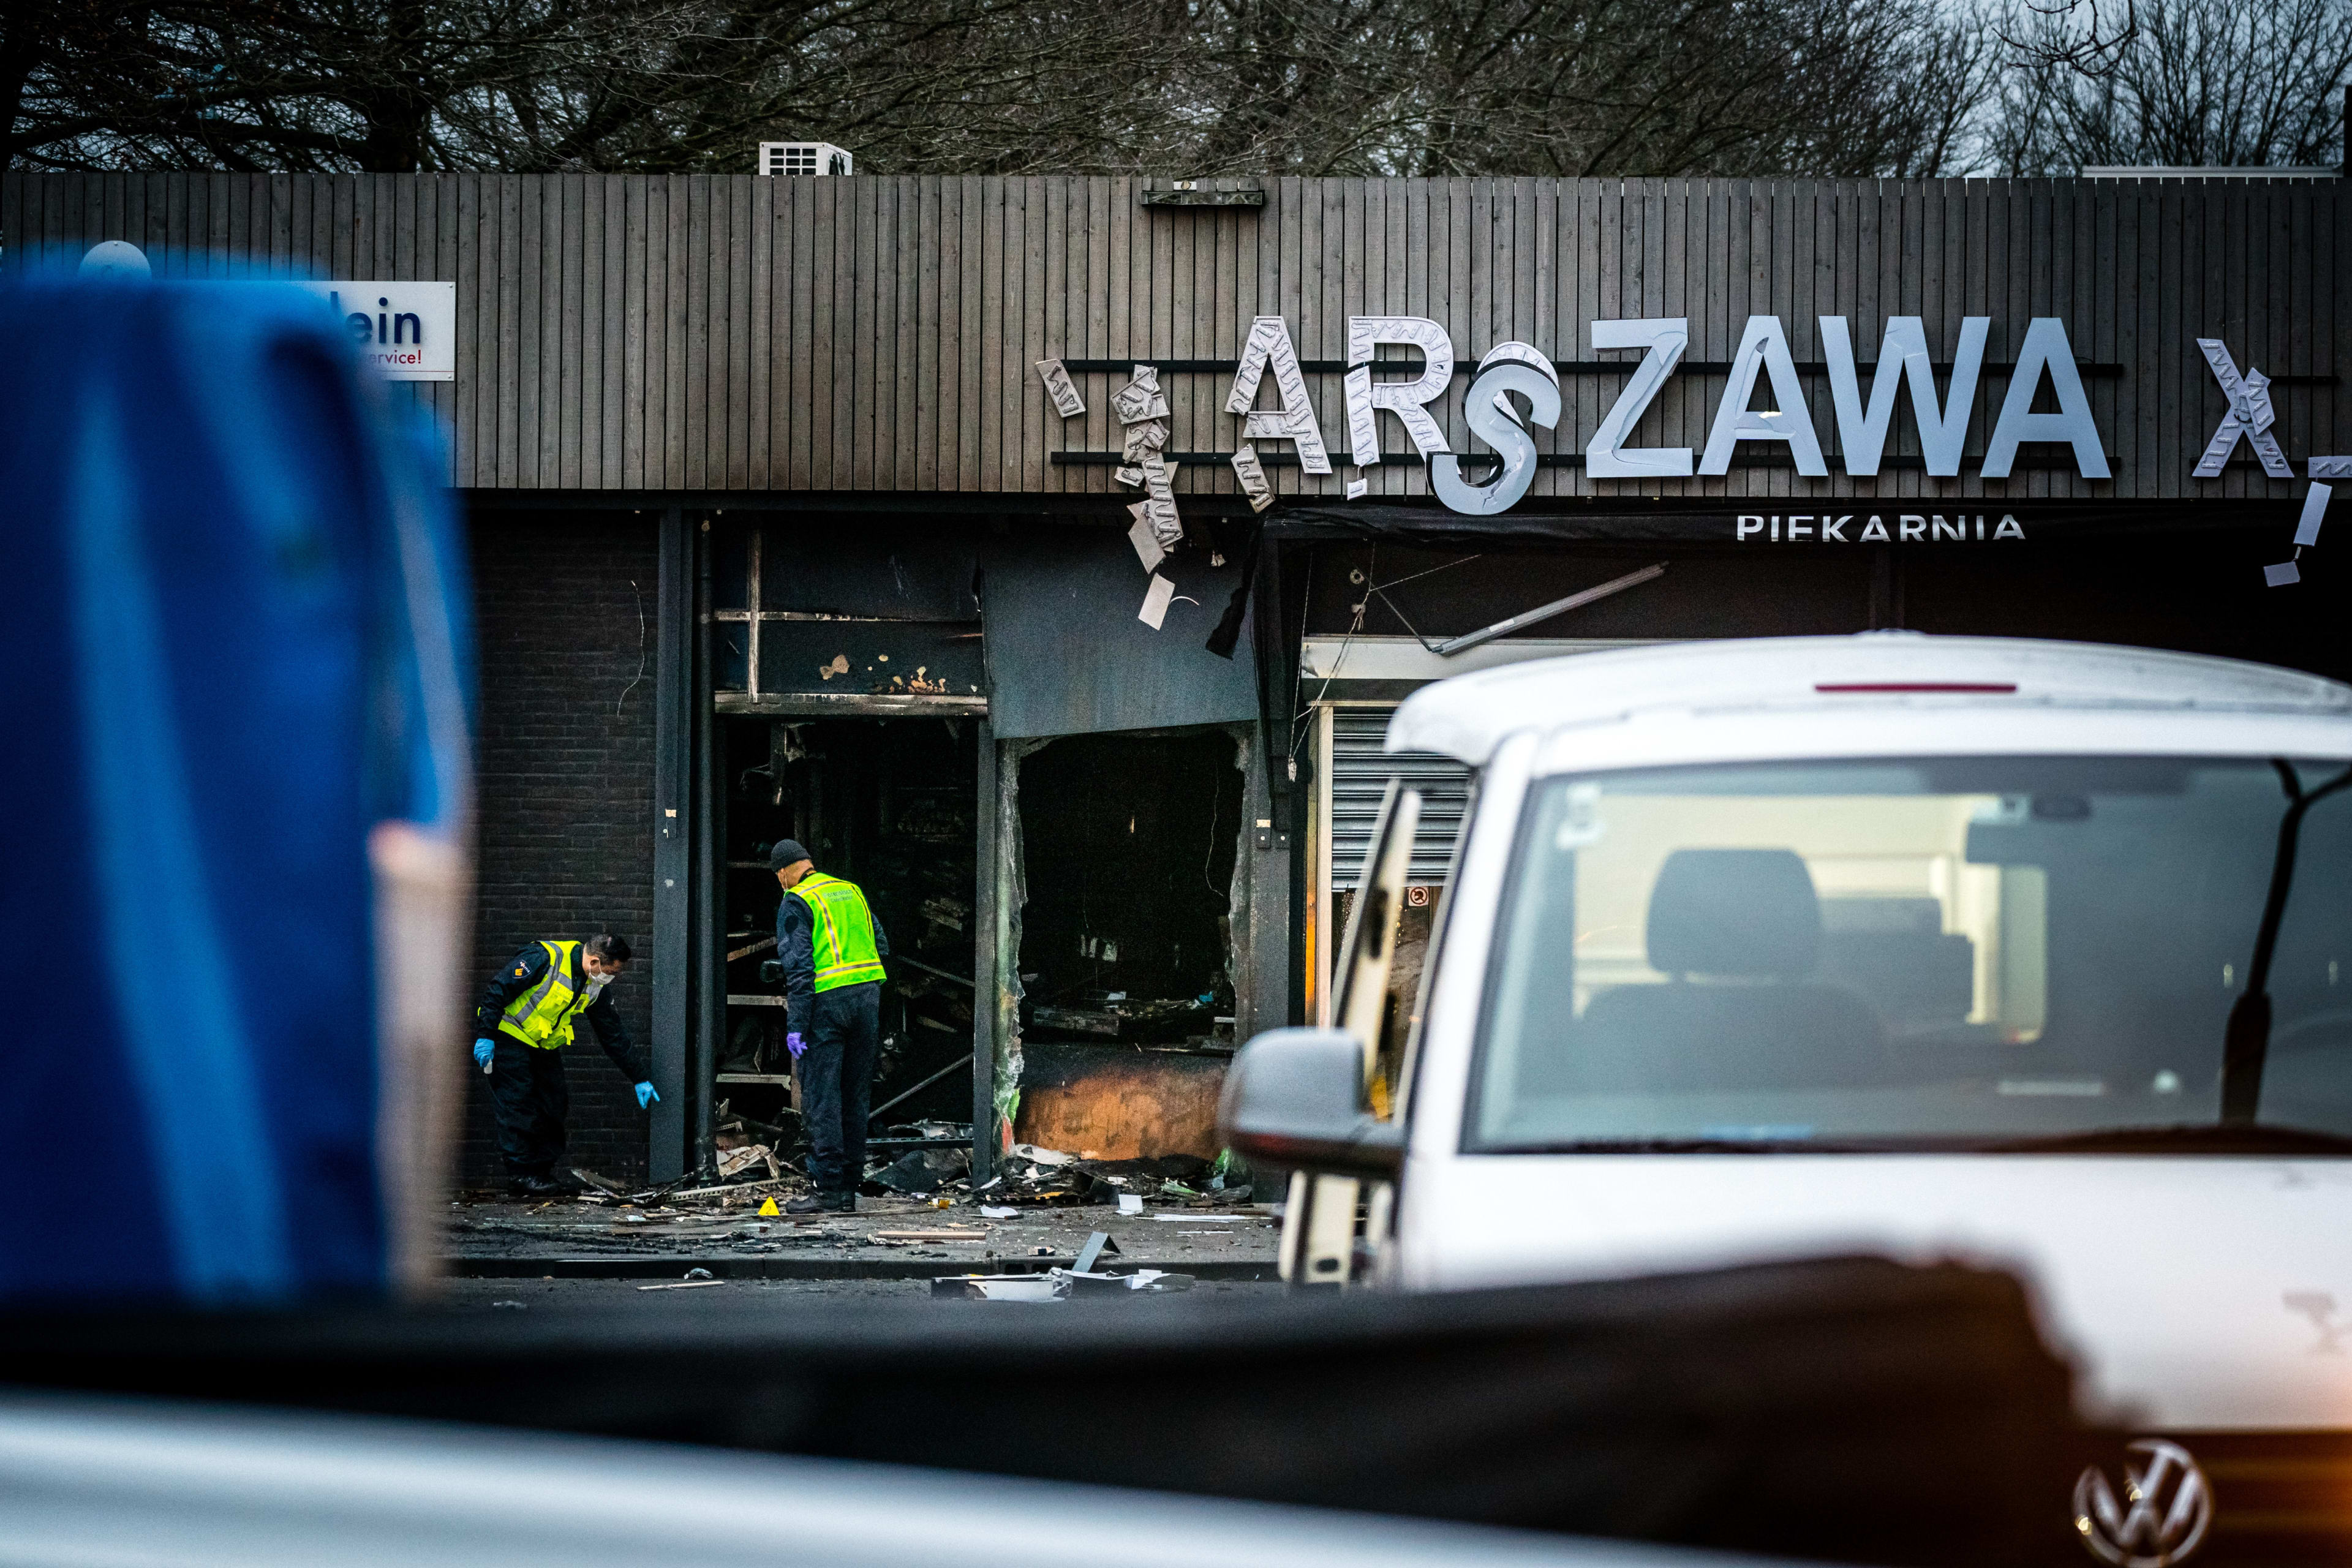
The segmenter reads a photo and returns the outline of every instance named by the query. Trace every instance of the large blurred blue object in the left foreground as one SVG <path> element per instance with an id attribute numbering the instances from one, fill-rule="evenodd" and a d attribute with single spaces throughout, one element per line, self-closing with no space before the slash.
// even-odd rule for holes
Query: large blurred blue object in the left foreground
<path id="1" fill-rule="evenodd" d="M 463 837 L 430 430 L 270 284 L 0 289 L 0 1302 L 381 1291 L 379 823 Z"/>

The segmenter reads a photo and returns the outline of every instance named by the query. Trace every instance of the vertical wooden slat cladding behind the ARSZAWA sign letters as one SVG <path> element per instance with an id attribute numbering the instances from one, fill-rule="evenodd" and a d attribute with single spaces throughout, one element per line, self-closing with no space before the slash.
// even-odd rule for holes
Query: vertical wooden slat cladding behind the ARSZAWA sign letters
<path id="1" fill-rule="evenodd" d="M 1733 355 L 1776 313 L 1799 364 L 1816 315 L 1846 315 L 1867 386 L 1886 315 L 1922 315 L 1943 357 L 1990 315 L 1987 362 L 2034 315 L 2065 320 L 2093 367 L 2107 484 L 2020 463 L 1976 475 L 2006 376 L 1987 374 L 1959 480 L 1889 468 L 1830 480 L 1788 465 L 1595 482 L 1548 465 L 1531 496 L 2286 498 L 2246 447 L 2220 480 L 2190 465 L 2223 416 L 2194 339 L 2291 376 L 2288 456 L 2352 451 L 2352 202 L 2340 181 L 1268 181 L 1263 209 L 1145 209 L 1124 179 L 287 176 L 7 174 L 5 263 L 73 261 L 132 240 L 165 277 L 454 280 L 456 381 L 409 383 L 452 437 L 452 480 L 517 491 L 1098 494 L 1120 447 L 1110 390 L 1054 414 L 1035 360 L 1230 362 L 1254 315 L 1289 320 L 1303 360 L 1345 357 L 1348 315 L 1428 315 L 1470 367 L 1522 339 L 1592 360 L 1585 322 L 1686 315 L 1691 362 Z M 1628 367 L 1632 357 L 1625 357 Z M 2100 369 L 2110 367 L 2110 369 Z M 1169 447 L 1230 454 L 1230 371 L 1164 371 Z M 1837 451 L 1828 378 L 1804 376 Z M 1282 494 L 1338 496 L 1341 376 L 1308 386 L 1341 473 L 1275 465 Z M 1442 423 L 1463 447 L 1461 388 Z M 1621 386 L 1571 374 L 1581 454 Z M 1682 371 L 1637 444 L 1705 447 L 1724 376 Z M 1383 418 L 1383 447 L 1404 447 Z M 1287 454 L 1287 447 L 1277 447 Z M 1766 449 L 1743 444 L 1740 454 Z M 1915 456 L 1907 395 L 1889 454 Z M 1277 458 L 1279 463 L 1282 458 Z M 1418 463 L 1376 496 L 1428 494 Z M 1181 489 L 1235 491 L 1188 465 Z"/>

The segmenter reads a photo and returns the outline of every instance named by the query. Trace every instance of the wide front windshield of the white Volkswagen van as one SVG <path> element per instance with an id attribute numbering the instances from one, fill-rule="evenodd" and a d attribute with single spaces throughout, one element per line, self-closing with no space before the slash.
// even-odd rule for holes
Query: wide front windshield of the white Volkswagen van
<path id="1" fill-rule="evenodd" d="M 2312 790 L 2345 764 L 2293 766 Z M 2303 823 L 2272 959 L 2258 1117 L 2274 1128 L 2352 1135 L 2347 795 Z M 2023 1147 L 2211 1128 L 2284 809 L 2265 759 L 1541 780 L 1465 1145 Z"/>

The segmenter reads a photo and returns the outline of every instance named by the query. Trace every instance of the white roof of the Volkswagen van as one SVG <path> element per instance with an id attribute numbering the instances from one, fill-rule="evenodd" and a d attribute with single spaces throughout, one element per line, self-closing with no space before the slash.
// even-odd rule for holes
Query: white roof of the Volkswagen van
<path id="1" fill-rule="evenodd" d="M 2098 642 L 2025 637 L 1726 637 L 1569 654 L 1458 675 L 1409 696 L 1390 752 L 1484 764 L 1505 736 L 1646 715 L 2100 710 L 2352 719 L 2352 686 L 2300 670 Z M 1957 715 L 1955 715 L 1957 717 Z M 1976 745 L 1962 750 L 1980 750 Z M 2150 731 L 2161 750 L 2161 731 Z"/>

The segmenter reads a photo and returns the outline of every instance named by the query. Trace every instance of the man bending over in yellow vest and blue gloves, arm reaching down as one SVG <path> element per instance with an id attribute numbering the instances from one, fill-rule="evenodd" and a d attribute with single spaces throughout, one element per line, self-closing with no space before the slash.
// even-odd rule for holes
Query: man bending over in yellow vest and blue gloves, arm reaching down
<path id="1" fill-rule="evenodd" d="M 586 1013 L 604 1056 L 637 1091 L 637 1110 L 661 1095 L 654 1074 L 628 1037 L 607 987 L 628 971 L 628 943 L 590 936 L 586 943 L 532 943 L 489 978 L 475 1009 L 475 1065 L 492 1074 L 489 1100 L 499 1112 L 499 1157 L 515 1197 L 555 1197 L 581 1185 L 564 1168 L 564 1046 Z"/>

